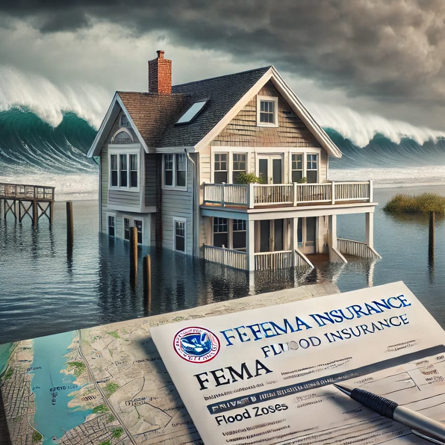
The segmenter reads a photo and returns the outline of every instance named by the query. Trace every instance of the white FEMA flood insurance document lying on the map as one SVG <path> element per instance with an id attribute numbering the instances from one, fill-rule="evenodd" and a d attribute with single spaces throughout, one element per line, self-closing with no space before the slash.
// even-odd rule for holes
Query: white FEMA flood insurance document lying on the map
<path id="1" fill-rule="evenodd" d="M 445 422 L 445 332 L 403 282 L 150 329 L 204 443 L 422 444 L 332 383 Z"/>

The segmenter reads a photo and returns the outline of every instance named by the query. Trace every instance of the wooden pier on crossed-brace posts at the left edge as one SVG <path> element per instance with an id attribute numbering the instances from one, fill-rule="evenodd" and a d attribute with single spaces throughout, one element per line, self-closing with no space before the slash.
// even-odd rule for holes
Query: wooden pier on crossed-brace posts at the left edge
<path id="1" fill-rule="evenodd" d="M 28 215 L 33 226 L 45 215 L 49 224 L 53 224 L 54 187 L 29 186 L 24 184 L 6 184 L 0 182 L 0 204 L 3 201 L 3 218 L 11 212 L 21 222 Z M 17 215 L 18 204 L 18 215 Z"/>

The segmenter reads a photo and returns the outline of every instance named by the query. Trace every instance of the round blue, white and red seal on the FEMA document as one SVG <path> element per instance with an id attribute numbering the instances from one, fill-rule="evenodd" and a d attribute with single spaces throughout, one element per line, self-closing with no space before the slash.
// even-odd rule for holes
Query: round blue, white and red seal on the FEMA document
<path id="1" fill-rule="evenodd" d="M 181 329 L 173 338 L 173 348 L 179 357 L 192 363 L 205 363 L 219 352 L 218 337 L 208 329 L 197 326 Z"/>

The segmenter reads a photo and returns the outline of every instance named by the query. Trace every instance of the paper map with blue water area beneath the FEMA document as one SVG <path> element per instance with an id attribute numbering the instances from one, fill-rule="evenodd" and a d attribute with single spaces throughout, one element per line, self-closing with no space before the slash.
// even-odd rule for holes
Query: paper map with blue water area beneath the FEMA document
<path id="1" fill-rule="evenodd" d="M 336 292 L 332 284 L 303 286 L 2 345 L 11 443 L 201 444 L 150 327 Z"/>

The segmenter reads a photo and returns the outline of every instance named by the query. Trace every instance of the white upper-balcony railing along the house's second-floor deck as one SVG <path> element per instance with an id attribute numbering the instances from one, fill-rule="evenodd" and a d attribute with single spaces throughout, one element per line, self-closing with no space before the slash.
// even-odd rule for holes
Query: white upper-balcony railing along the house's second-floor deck
<path id="1" fill-rule="evenodd" d="M 204 184 L 204 204 L 259 206 L 373 200 L 372 181 L 320 184 Z"/>

